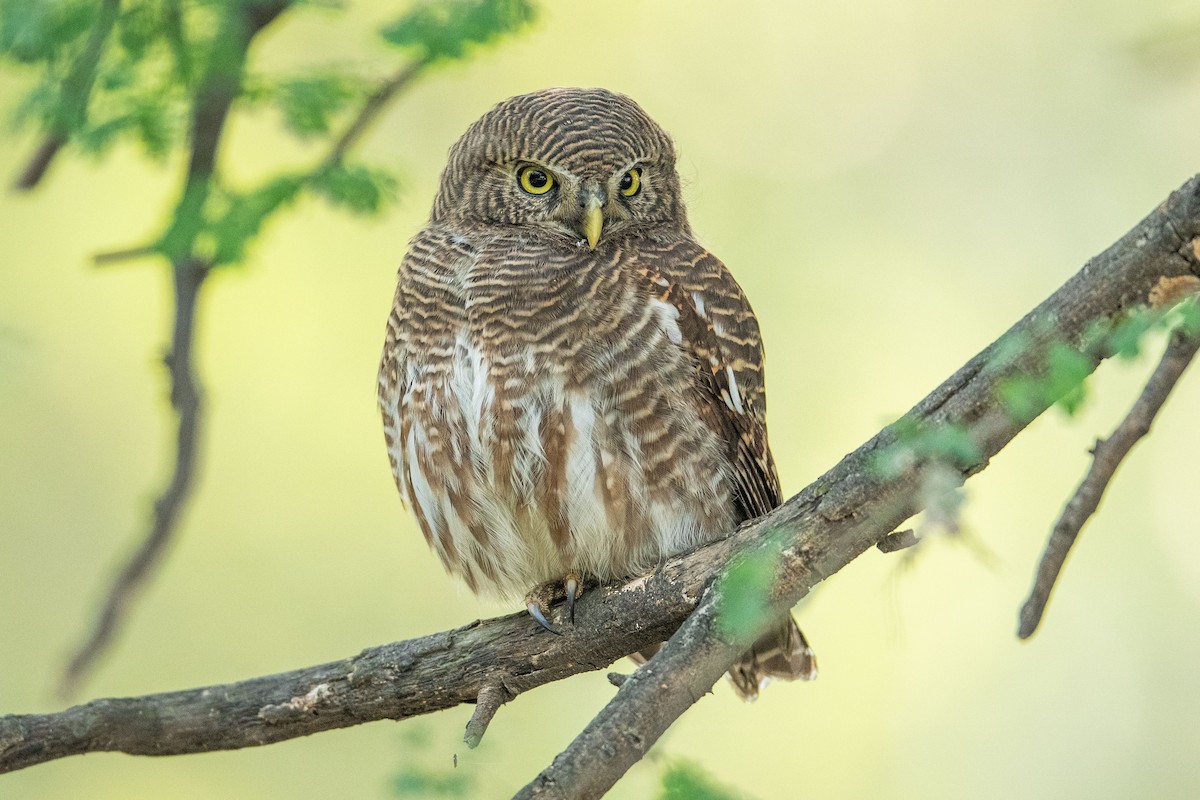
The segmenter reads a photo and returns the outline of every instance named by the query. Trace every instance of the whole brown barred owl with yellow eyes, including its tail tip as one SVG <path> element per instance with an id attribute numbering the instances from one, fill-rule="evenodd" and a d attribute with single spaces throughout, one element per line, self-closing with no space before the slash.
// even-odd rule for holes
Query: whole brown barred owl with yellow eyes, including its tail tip
<path id="1" fill-rule="evenodd" d="M 506 100 L 450 150 L 379 405 L 401 495 L 476 593 L 558 583 L 574 603 L 780 503 L 758 324 L 692 236 L 674 162 L 602 89 Z M 815 674 L 791 616 L 730 672 L 744 697 Z"/>

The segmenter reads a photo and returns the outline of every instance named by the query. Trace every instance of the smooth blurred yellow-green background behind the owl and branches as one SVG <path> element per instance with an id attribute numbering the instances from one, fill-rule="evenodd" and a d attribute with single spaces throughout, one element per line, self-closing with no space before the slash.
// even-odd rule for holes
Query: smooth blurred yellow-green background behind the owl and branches
<path id="1" fill-rule="evenodd" d="M 290 14 L 254 66 L 382 73 L 392 56 L 372 31 L 395 8 L 348 5 Z M 428 76 L 372 131 L 362 155 L 404 175 L 385 216 L 302 203 L 210 281 L 198 491 L 86 696 L 233 681 L 505 610 L 426 551 L 373 407 L 395 267 L 446 148 L 493 102 L 604 85 L 674 134 L 692 223 L 762 321 L 792 493 L 1200 167 L 1200 71 L 1170 58 L 1186 47 L 1145 46 L 1193 13 L 1168 0 L 546 2 L 529 34 Z M 4 100 L 19 85 L 6 79 Z M 275 125 L 233 120 L 235 178 L 316 155 Z M 4 142 L 7 181 L 35 140 Z M 55 673 L 162 481 L 164 270 L 89 258 L 151 235 L 180 173 L 132 151 L 64 158 L 32 196 L 0 197 L 0 712 L 59 708 Z M 1200 375 L 1122 468 L 1044 630 L 1013 634 L 1087 447 L 1147 368 L 1104 367 L 1081 419 L 1048 415 L 972 480 L 968 542 L 869 553 L 821 587 L 799 612 L 818 681 L 755 705 L 719 686 L 656 752 L 763 800 L 1200 796 Z M 475 752 L 461 708 L 241 752 L 71 758 L 0 777 L 0 796 L 386 798 L 402 765 L 449 769 L 454 753 L 478 796 L 508 796 L 611 694 L 594 673 L 523 696 Z M 650 796 L 659 770 L 636 766 L 612 796 Z"/>

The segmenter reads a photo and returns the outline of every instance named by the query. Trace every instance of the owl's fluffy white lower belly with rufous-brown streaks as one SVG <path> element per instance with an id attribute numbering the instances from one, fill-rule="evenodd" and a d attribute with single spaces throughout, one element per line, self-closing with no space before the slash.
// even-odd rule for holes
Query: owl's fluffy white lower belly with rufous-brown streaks
<path id="1" fill-rule="evenodd" d="M 604 396 L 611 389 L 568 387 L 532 350 L 494 373 L 466 333 L 452 357 L 408 366 L 407 391 L 384 408 L 398 422 L 397 483 L 446 569 L 474 590 L 520 596 L 571 571 L 636 575 L 727 533 L 692 498 L 647 488 L 642 443 Z M 727 492 L 716 471 L 696 476 L 710 486 L 708 507 Z"/>

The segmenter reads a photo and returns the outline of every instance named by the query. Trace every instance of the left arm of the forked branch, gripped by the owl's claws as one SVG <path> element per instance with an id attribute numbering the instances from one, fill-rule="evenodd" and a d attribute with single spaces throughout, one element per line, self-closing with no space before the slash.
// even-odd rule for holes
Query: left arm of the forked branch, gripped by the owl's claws
<path id="1" fill-rule="evenodd" d="M 560 603 L 554 614 L 562 636 L 528 614 L 510 614 L 278 675 L 4 716 L 0 772 L 86 752 L 168 756 L 252 747 L 428 714 L 488 692 L 487 702 L 498 700 L 490 687 L 516 697 L 666 639 L 725 563 L 730 543 L 676 557 L 650 577 L 589 590 L 576 606 L 574 626 L 565 624 Z M 472 730 L 482 722 L 479 716 Z"/>

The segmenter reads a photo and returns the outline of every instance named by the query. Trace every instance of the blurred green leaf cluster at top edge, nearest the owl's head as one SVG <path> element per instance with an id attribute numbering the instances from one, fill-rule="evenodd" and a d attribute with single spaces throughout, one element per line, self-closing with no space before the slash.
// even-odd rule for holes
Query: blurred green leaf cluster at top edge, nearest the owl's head
<path id="1" fill-rule="evenodd" d="M 426 61 L 462 59 L 533 20 L 529 0 L 427 0 L 383 31 L 388 42 L 415 48 Z"/>

